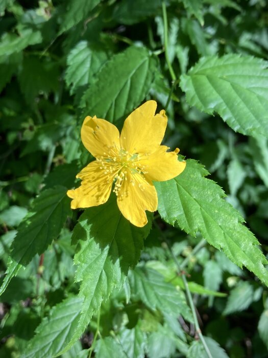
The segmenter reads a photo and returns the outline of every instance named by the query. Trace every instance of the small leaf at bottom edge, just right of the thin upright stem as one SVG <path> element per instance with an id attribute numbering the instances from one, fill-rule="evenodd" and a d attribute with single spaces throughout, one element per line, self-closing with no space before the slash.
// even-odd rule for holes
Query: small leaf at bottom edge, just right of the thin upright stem
<path id="1" fill-rule="evenodd" d="M 113 338 L 106 337 L 98 340 L 95 348 L 96 358 L 111 358 L 116 352 L 116 358 L 127 358 L 128 356 L 123 350 L 123 347 L 117 343 Z"/>

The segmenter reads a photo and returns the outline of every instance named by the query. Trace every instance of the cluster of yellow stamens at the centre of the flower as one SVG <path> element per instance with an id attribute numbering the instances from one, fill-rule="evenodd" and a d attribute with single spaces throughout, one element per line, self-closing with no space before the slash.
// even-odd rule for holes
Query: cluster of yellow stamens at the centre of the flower
<path id="1" fill-rule="evenodd" d="M 124 183 L 129 180 L 130 184 L 135 186 L 135 175 L 143 176 L 147 173 L 145 165 L 139 163 L 147 156 L 148 154 L 129 153 L 125 149 L 120 149 L 118 152 L 112 147 L 108 152 L 104 152 L 104 155 L 96 158 L 96 161 L 100 163 L 100 169 L 104 169 L 107 182 L 114 180 L 113 192 L 117 196 Z"/>

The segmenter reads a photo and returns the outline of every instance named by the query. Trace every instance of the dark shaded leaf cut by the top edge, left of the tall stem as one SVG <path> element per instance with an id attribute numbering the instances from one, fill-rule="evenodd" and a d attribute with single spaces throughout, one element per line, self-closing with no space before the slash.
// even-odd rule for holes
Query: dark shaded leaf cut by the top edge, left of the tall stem
<path id="1" fill-rule="evenodd" d="M 161 2 L 155 0 L 122 0 L 116 4 L 113 17 L 120 24 L 133 25 L 149 16 L 155 16 L 161 9 Z"/>

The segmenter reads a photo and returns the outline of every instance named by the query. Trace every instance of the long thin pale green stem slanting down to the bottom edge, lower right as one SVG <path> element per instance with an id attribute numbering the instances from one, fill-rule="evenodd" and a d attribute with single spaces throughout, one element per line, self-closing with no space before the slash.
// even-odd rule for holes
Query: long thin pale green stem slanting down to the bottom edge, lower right
<path id="1" fill-rule="evenodd" d="M 180 273 L 180 275 L 182 277 L 183 284 L 184 284 L 184 287 L 185 287 L 186 296 L 187 296 L 187 299 L 189 301 L 190 309 L 192 311 L 194 327 L 196 328 L 196 332 L 198 334 L 198 337 L 200 338 L 208 357 L 212 358 L 212 355 L 211 355 L 210 350 L 209 350 L 209 348 L 208 348 L 208 346 L 206 344 L 206 341 L 204 339 L 204 336 L 202 334 L 202 331 L 201 331 L 199 323 L 198 323 L 196 307 L 194 307 L 192 296 L 191 296 L 191 293 L 190 293 L 190 289 L 189 289 L 189 285 L 188 285 L 188 282 L 186 280 L 186 277 L 181 271 L 181 265 L 180 265 L 177 257 L 174 255 L 174 253 L 173 253 L 172 249 L 170 248 L 169 244 L 167 242 L 166 242 L 166 244 L 167 244 L 167 247 L 168 247 L 168 249 L 170 251 L 170 254 L 172 254 L 172 257 L 173 257 L 173 260 L 174 260 L 174 262 L 175 262 L 175 264 L 177 266 L 178 272 Z"/>

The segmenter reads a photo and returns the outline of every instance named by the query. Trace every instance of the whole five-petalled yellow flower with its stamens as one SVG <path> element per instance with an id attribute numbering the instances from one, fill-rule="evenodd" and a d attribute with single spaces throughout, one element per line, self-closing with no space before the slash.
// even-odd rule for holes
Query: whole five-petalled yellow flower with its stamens
<path id="1" fill-rule="evenodd" d="M 68 190 L 71 208 L 88 208 L 107 202 L 112 186 L 120 212 L 135 226 L 147 223 L 145 210 L 156 211 L 157 193 L 153 181 L 166 181 L 179 175 L 185 162 L 160 145 L 167 117 L 161 110 L 155 115 L 156 102 L 147 101 L 135 109 L 119 135 L 110 122 L 86 117 L 81 129 L 84 146 L 95 157 L 77 177 L 81 186 Z"/>

